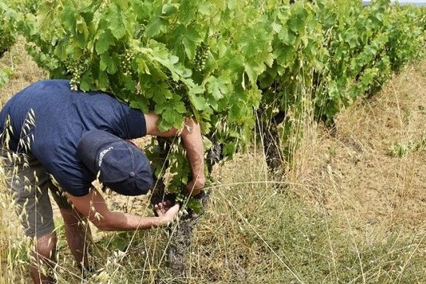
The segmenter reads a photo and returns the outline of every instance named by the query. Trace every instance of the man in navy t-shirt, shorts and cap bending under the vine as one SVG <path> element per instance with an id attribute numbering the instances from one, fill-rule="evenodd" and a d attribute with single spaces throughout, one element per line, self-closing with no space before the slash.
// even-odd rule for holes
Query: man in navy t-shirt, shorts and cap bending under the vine
<path id="1" fill-rule="evenodd" d="M 92 186 L 99 178 L 123 195 L 141 195 L 151 188 L 146 156 L 126 139 L 180 136 L 192 170 L 187 189 L 191 195 L 200 192 L 205 181 L 200 126 L 187 119 L 181 130 L 161 132 L 158 119 L 156 114 L 131 109 L 104 92 L 72 92 L 67 80 L 36 82 L 4 105 L 0 113 L 3 160 L 12 173 L 8 182 L 25 234 L 35 240 L 30 267 L 35 283 L 54 282 L 39 269 L 39 263 L 55 263 L 57 239 L 49 190 L 64 219 L 67 243 L 82 268 L 89 266 L 88 228 L 82 220 L 89 219 L 102 230 L 117 231 L 173 222 L 178 204 L 156 204 L 158 217 L 111 212 Z"/>

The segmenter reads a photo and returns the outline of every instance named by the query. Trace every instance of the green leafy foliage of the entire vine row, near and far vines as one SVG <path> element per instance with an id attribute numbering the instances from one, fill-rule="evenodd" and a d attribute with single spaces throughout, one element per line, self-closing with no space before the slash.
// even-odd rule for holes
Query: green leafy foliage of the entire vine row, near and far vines
<path id="1" fill-rule="evenodd" d="M 225 158 L 250 140 L 259 104 L 267 119 L 287 114 L 288 139 L 307 102 L 330 122 L 425 47 L 425 9 L 386 0 L 26 0 L 13 8 L 28 52 L 51 77 L 155 111 L 161 130 L 192 116 Z M 160 177 L 155 143 L 150 149 Z M 190 170 L 179 143 L 168 158 L 169 190 L 180 192 Z"/>

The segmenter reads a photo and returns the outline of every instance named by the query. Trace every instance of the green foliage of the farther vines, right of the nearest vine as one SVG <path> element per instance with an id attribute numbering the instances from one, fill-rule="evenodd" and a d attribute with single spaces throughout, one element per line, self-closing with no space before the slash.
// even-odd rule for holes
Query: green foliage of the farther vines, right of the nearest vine
<path id="1" fill-rule="evenodd" d="M 310 102 L 315 117 L 332 125 L 342 108 L 381 89 L 393 72 L 424 54 L 425 11 L 386 0 L 365 7 L 356 0 L 297 1 L 268 9 L 275 60 L 259 78 L 262 119 L 286 114 L 285 157 L 297 147 Z"/>

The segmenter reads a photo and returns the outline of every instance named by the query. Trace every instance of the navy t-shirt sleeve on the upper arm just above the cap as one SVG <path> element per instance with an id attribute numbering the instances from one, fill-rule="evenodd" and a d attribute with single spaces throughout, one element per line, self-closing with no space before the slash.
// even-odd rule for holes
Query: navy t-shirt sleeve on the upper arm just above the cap
<path id="1" fill-rule="evenodd" d="M 121 138 L 133 139 L 146 136 L 146 121 L 142 111 L 132 109 L 126 104 L 121 104 L 121 126 L 117 133 L 121 132 Z"/>

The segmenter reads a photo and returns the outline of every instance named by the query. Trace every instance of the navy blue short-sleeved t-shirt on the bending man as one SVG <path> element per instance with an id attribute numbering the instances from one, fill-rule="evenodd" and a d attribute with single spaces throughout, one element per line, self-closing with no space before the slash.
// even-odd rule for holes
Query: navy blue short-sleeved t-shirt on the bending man
<path id="1" fill-rule="evenodd" d="M 0 133 L 8 116 L 13 130 L 9 148 L 24 152 L 19 141 L 31 141 L 31 153 L 75 196 L 87 195 L 95 178 L 77 155 L 83 133 L 101 129 L 123 139 L 146 135 L 141 111 L 104 92 L 72 92 L 67 80 L 43 80 L 18 92 L 1 110 Z"/>

